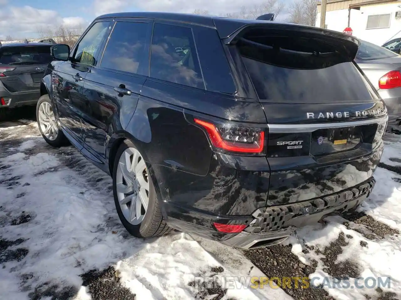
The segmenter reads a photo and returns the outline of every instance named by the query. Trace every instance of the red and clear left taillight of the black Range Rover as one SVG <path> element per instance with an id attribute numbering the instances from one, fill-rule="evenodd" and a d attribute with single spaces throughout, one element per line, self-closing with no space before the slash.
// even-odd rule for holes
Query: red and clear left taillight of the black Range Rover
<path id="1" fill-rule="evenodd" d="M 265 141 L 265 132 L 261 128 L 240 127 L 231 124 L 215 124 L 194 119 L 196 124 L 206 129 L 215 148 L 229 152 L 261 153 Z"/>

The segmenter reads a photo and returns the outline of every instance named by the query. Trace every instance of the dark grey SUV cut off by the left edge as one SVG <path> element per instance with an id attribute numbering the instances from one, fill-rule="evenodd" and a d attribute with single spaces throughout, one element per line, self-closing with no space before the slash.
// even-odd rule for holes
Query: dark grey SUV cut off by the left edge
<path id="1" fill-rule="evenodd" d="M 50 44 L 0 43 L 0 116 L 7 108 L 35 105 L 49 62 Z"/>

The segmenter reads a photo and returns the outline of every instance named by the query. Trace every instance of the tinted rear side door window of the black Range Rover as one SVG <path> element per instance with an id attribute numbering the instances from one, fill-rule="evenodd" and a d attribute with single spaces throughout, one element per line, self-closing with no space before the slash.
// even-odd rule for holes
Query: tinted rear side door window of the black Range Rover
<path id="1" fill-rule="evenodd" d="M 149 23 L 117 22 L 100 67 L 148 76 L 149 26 Z"/>

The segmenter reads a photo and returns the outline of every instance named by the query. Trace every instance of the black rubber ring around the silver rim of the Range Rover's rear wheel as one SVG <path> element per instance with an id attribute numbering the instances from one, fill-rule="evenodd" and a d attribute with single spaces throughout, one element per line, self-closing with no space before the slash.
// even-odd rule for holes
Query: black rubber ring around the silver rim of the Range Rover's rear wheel
<path id="1" fill-rule="evenodd" d="M 124 214 L 122 213 L 122 210 L 119 205 L 118 197 L 117 197 L 117 184 L 116 184 L 116 174 L 117 174 L 117 166 L 118 166 L 118 160 L 122 153 L 128 149 L 128 148 L 135 148 L 139 150 L 131 141 L 125 140 L 121 146 L 119 146 L 117 153 L 115 155 L 115 160 L 114 160 L 114 165 L 113 165 L 113 196 L 114 196 L 114 203 L 115 203 L 115 208 L 117 209 L 117 214 L 123 224 L 123 226 L 132 234 L 133 236 L 136 236 L 138 238 L 145 238 L 148 236 L 151 236 L 149 230 L 152 226 L 152 223 L 154 221 L 154 211 L 157 209 L 157 198 L 156 198 L 156 192 L 154 189 L 154 184 L 152 182 L 152 178 L 149 174 L 148 170 L 148 180 L 149 180 L 149 203 L 148 203 L 148 209 L 146 210 L 146 214 L 144 217 L 144 220 L 138 224 L 138 225 L 132 225 L 130 224 L 126 218 L 124 217 Z M 141 153 L 142 155 L 142 153 Z M 142 159 L 143 156 L 142 156 Z"/>

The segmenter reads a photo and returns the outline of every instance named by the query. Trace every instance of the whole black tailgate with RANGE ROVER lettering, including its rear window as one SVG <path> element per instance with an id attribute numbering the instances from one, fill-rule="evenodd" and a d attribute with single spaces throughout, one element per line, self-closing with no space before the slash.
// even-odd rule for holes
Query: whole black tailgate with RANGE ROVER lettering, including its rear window
<path id="1" fill-rule="evenodd" d="M 380 161 L 387 109 L 354 62 L 358 40 L 279 25 L 253 27 L 236 39 L 267 117 L 267 206 L 368 180 Z"/>

